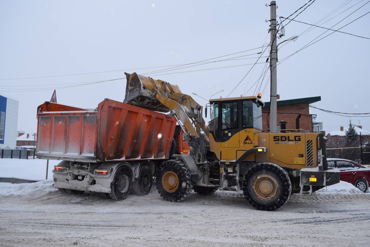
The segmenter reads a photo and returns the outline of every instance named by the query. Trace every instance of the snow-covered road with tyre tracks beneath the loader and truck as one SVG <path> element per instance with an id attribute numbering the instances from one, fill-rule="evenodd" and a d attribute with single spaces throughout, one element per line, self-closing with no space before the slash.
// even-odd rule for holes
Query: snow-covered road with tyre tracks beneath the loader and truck
<path id="1" fill-rule="evenodd" d="M 39 182 L 41 183 L 41 182 Z M 46 182 L 47 183 L 47 182 Z M 51 183 L 51 181 L 50 181 Z M 232 197 L 229 197 L 232 196 Z M 34 192 L 0 196 L 0 246 L 369 246 L 370 194 L 293 195 L 281 210 L 240 193 L 169 203 L 147 196 Z"/>

